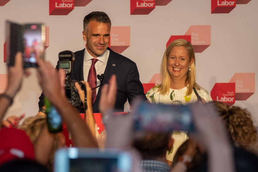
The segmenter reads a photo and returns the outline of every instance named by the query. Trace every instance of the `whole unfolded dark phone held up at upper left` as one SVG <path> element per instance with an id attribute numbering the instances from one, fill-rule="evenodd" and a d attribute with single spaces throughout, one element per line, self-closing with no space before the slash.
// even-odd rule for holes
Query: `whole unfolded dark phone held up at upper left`
<path id="1" fill-rule="evenodd" d="M 18 51 L 23 53 L 24 68 L 37 67 L 36 57 L 44 59 L 46 27 L 43 23 L 20 25 L 6 21 L 5 59 L 14 65 Z"/>

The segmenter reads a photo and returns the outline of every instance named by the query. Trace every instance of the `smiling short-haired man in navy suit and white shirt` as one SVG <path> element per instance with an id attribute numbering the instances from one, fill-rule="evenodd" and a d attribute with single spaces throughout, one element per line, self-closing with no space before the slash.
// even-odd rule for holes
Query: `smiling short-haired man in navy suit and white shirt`
<path id="1" fill-rule="evenodd" d="M 73 71 L 69 76 L 72 80 L 87 81 L 92 59 L 98 59 L 95 63 L 96 74 L 104 74 L 103 84 L 108 83 L 112 74 L 116 74 L 117 97 L 115 110 L 123 112 L 125 102 L 131 104 L 134 97 L 141 97 L 146 100 L 143 92 L 142 83 L 139 80 L 139 72 L 132 60 L 112 51 L 108 48 L 110 41 L 111 21 L 104 12 L 91 12 L 84 17 L 83 39 L 86 41 L 86 48 L 75 52 Z M 57 66 L 58 67 L 58 66 Z M 97 81 L 97 86 L 100 81 Z M 96 91 L 96 99 L 93 112 L 99 112 L 98 102 L 101 88 L 93 89 Z M 40 96 L 39 106 L 44 104 L 43 96 Z"/>

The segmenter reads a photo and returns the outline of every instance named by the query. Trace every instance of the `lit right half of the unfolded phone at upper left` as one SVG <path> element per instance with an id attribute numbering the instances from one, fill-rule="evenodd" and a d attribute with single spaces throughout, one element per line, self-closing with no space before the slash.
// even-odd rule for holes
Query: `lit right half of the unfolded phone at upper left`
<path id="1" fill-rule="evenodd" d="M 24 67 L 37 67 L 36 56 L 44 58 L 45 25 L 23 25 L 23 49 Z"/>

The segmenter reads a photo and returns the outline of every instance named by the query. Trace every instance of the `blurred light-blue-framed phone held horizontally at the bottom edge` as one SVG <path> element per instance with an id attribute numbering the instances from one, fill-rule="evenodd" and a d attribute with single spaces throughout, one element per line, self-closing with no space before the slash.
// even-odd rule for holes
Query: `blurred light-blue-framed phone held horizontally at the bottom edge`
<path id="1" fill-rule="evenodd" d="M 54 156 L 55 172 L 131 172 L 132 156 L 127 151 L 106 148 L 59 149 Z"/>

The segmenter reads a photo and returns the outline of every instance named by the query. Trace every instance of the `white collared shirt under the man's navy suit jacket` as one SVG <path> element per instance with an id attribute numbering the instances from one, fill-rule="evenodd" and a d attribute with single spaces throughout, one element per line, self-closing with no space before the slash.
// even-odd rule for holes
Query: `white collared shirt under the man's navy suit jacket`
<path id="1" fill-rule="evenodd" d="M 97 57 L 96 59 L 98 59 L 98 61 L 95 63 L 95 69 L 96 69 L 96 77 L 97 75 L 101 75 L 104 74 L 104 71 L 106 69 L 107 66 L 107 60 L 109 57 L 109 50 L 106 50 L 104 52 L 104 54 L 102 54 L 101 56 Z M 84 61 L 83 61 L 83 77 L 84 77 L 84 81 L 88 81 L 88 75 L 89 75 L 89 68 L 92 65 L 92 60 L 94 57 L 92 57 L 87 49 L 85 48 L 84 51 Z M 97 86 L 100 85 L 100 80 L 97 79 Z M 98 94 L 98 90 L 99 87 L 96 89 L 97 94 Z M 93 90 L 92 90 L 93 91 Z"/>

